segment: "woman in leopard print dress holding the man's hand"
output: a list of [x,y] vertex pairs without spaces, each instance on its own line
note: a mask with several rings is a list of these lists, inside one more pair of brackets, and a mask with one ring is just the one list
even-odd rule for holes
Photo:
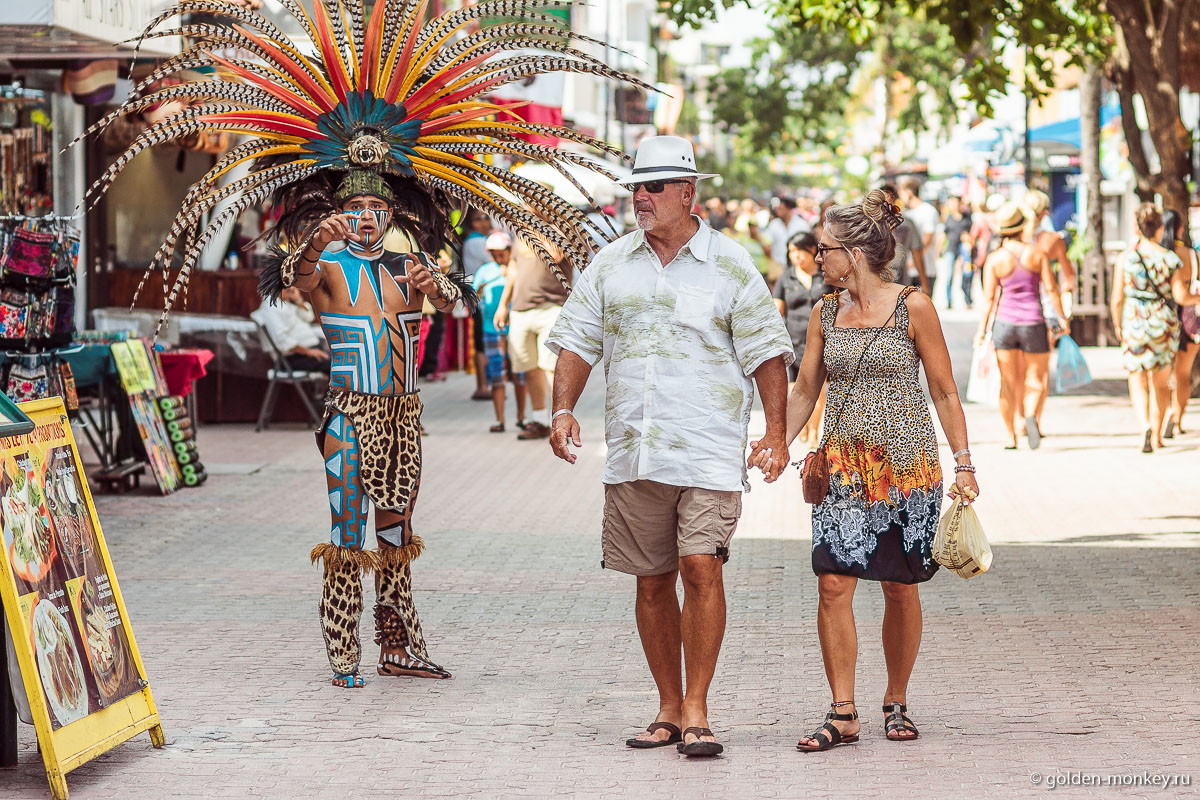
[[829,459],[829,493],[812,510],[812,570],[821,603],[817,630],[833,710],[797,745],[828,750],[857,741],[853,595],[859,579],[883,588],[883,693],[886,735],[917,738],[906,716],[908,676],[920,645],[917,587],[937,571],[931,555],[942,501],[937,437],[918,383],[919,366],[954,452],[956,486],[978,494],[967,450],[966,419],[950,373],[941,323],[929,297],[893,283],[892,230],[900,211],[881,191],[860,205],[826,213],[817,261],[826,283],[840,291],[814,308],[808,347],[787,409],[787,441],[809,421],[829,379],[822,443]]

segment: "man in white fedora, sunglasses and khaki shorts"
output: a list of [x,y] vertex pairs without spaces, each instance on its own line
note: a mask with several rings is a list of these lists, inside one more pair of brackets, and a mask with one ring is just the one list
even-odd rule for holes
[[637,630],[659,690],[654,723],[626,745],[686,756],[722,750],[708,687],[725,634],[721,566],[749,488],[754,384],[767,433],[751,457],[769,451],[774,481],[787,465],[793,359],[750,254],[691,213],[704,178],[686,139],[642,142],[625,181],[637,229],[596,253],[547,341],[558,354],[550,444],[568,463],[581,441],[572,409],[601,360],[607,378],[600,564],[637,576]]

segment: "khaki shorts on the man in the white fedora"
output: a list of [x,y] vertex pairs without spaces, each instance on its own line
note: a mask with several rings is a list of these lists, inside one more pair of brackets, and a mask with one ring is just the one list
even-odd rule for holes
[[600,566],[648,576],[679,569],[685,555],[728,561],[740,515],[742,492],[658,481],[606,483]]

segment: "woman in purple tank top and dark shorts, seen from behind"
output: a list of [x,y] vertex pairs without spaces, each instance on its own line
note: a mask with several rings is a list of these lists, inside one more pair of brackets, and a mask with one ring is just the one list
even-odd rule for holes
[[1016,450],[1016,420],[1025,420],[1030,447],[1042,444],[1039,399],[1050,381],[1050,338],[1042,315],[1042,289],[1069,330],[1058,282],[1045,253],[1026,243],[1026,211],[1006,203],[996,211],[1000,246],[984,261],[983,294],[986,309],[977,344],[991,336],[1000,365],[1000,415],[1008,439],[1006,450]]

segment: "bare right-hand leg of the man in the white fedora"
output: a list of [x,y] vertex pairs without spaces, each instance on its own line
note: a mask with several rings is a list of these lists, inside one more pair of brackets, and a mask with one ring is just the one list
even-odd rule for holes
[[[716,672],[716,658],[725,638],[725,583],[721,559],[686,555],[679,559],[683,577],[682,638],[688,670],[688,693],[683,700],[683,729],[708,728],[708,686]],[[716,736],[701,736],[716,741]],[[695,739],[692,739],[695,741]],[[686,736],[684,744],[688,744]]]

